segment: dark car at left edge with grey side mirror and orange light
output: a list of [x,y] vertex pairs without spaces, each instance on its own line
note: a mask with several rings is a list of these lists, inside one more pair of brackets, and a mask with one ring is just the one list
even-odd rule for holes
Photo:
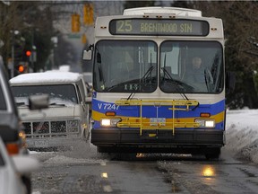
[[[46,97],[44,98],[46,99]],[[47,107],[47,102],[42,101],[43,99],[41,99],[41,97],[40,99],[36,100],[36,103],[34,103],[34,99],[30,101],[30,107],[33,107],[34,110]],[[0,57],[0,137],[2,137],[4,141],[8,154],[28,154],[22,120],[20,119],[15,101],[13,99],[13,94],[8,82],[2,57]],[[22,174],[22,181],[26,185],[28,193],[30,193],[30,173]]]

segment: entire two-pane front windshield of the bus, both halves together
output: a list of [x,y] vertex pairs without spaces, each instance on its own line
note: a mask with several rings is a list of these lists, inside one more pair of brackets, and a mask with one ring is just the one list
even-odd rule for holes
[[223,91],[223,52],[217,41],[166,40],[158,49],[151,40],[100,40],[95,48],[97,92],[153,93],[158,83],[163,93]]

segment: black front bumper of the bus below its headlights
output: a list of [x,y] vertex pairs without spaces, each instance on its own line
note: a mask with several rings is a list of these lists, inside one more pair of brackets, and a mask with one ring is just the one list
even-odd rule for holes
[[139,128],[94,128],[91,143],[107,152],[180,153],[194,154],[217,149],[224,145],[224,130],[175,129],[142,130]]

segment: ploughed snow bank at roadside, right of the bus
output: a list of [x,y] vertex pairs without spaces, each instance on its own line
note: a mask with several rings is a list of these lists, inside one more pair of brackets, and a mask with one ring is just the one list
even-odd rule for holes
[[226,146],[236,157],[258,163],[258,110],[228,110]]

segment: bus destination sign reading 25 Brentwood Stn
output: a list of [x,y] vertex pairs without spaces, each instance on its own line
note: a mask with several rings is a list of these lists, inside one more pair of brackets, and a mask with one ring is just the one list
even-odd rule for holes
[[194,20],[117,19],[109,23],[113,35],[207,36],[209,23]]

